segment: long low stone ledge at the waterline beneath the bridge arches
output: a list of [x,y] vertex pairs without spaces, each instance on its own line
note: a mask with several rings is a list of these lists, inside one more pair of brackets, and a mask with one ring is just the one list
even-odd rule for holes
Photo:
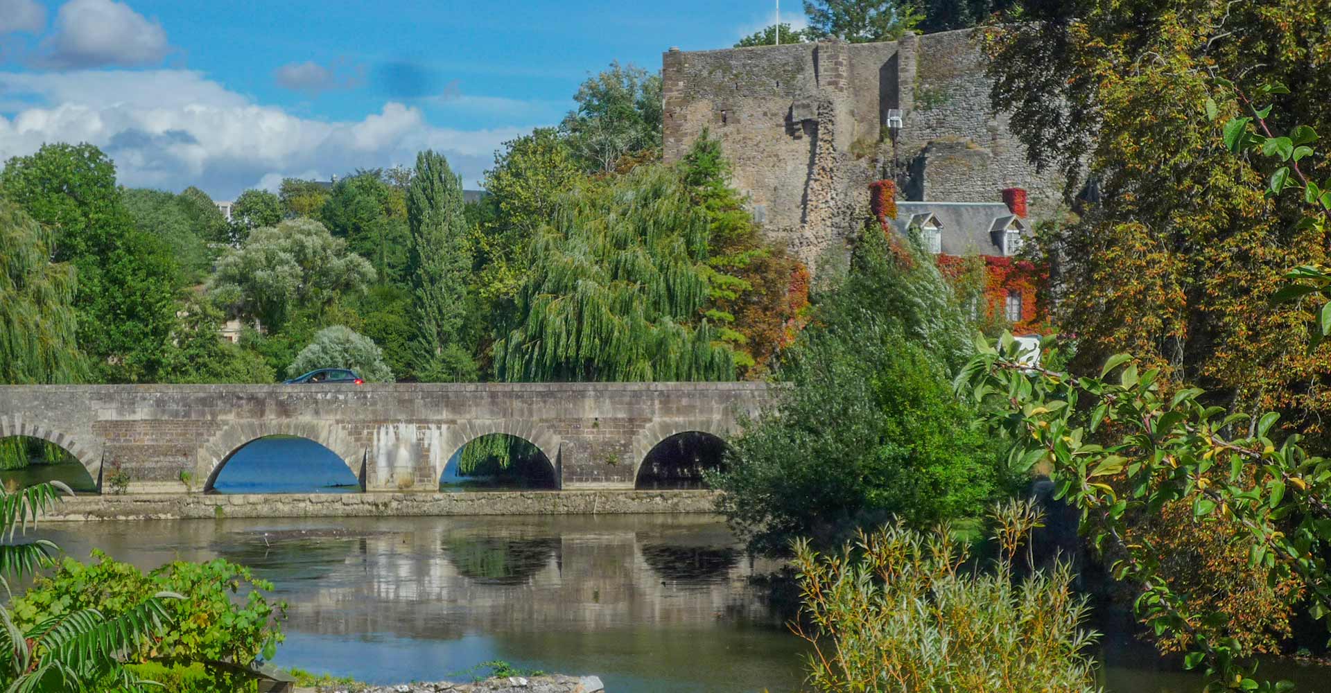
[[709,513],[715,499],[712,491],[634,489],[85,495],[65,499],[43,521]]

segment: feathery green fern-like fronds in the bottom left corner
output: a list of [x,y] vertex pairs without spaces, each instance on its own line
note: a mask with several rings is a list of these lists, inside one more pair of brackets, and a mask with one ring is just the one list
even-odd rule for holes
[[[60,551],[53,543],[15,537],[20,528],[27,531],[29,520],[36,523],[51,511],[61,493],[73,495],[61,483],[36,484],[13,493],[0,488],[0,587],[5,592],[11,579],[52,565]],[[15,600],[11,608],[0,608],[0,686],[11,693],[142,690],[152,682],[124,664],[176,626],[172,607],[181,599],[176,592],[144,589],[114,607],[64,601],[59,612],[27,616]]]

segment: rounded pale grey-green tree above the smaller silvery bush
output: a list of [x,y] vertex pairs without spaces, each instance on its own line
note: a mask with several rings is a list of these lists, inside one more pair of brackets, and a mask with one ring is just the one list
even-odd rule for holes
[[370,263],[346,251],[313,219],[287,219],[254,229],[241,247],[217,261],[208,293],[229,315],[257,318],[269,331],[281,330],[302,309],[323,310],[343,291],[374,282]]

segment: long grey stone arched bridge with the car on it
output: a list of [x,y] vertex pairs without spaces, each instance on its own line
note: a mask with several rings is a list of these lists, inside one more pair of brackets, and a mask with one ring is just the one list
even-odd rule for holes
[[546,454],[560,488],[632,488],[662,440],[724,436],[768,399],[763,383],[3,386],[0,438],[56,443],[98,488],[118,466],[130,492],[178,492],[181,472],[208,489],[237,450],[294,435],[366,491],[433,492],[462,446],[510,434]]

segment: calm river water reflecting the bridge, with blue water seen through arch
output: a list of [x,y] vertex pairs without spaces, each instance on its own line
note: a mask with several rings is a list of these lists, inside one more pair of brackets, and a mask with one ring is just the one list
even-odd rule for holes
[[[262,484],[262,476],[277,476],[274,459],[281,459],[284,491],[345,480],[335,458],[321,463],[290,446],[246,448],[224,470],[218,488],[276,491]],[[49,468],[0,474],[0,480],[8,476],[69,479]],[[751,561],[712,516],[226,519],[40,528],[40,536],[80,559],[100,548],[145,569],[213,557],[252,567],[290,607],[287,638],[276,657],[281,666],[393,684],[467,680],[461,672],[498,658],[527,669],[595,673],[612,693],[800,689],[803,644],[749,584],[776,565]],[[1195,674],[1155,657],[1131,634],[1106,634],[1101,656],[1102,682],[1111,693],[1201,690]],[[1331,693],[1331,669],[1280,661],[1263,670],[1295,680],[1299,690]]]

